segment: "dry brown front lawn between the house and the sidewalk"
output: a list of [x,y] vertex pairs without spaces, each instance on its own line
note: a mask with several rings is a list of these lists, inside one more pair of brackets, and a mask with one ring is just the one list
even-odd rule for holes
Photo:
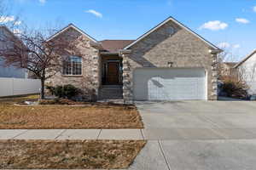
[[143,128],[141,116],[133,105],[13,105],[22,100],[0,99],[0,129]]

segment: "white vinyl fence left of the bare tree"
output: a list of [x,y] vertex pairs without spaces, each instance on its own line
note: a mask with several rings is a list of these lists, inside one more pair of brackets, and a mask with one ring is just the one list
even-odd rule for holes
[[38,94],[41,82],[38,79],[0,78],[0,97]]

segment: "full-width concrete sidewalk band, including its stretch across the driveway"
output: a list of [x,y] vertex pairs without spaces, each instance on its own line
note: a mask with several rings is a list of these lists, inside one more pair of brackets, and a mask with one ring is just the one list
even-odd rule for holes
[[0,130],[0,139],[222,140],[256,139],[256,128]]

